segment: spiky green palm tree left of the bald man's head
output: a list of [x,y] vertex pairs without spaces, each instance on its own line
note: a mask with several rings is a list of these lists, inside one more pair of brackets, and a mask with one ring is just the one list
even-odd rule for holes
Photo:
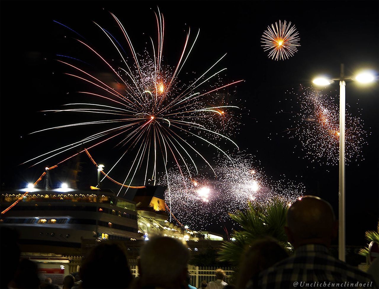
[[232,233],[233,241],[222,243],[218,252],[218,261],[229,261],[237,266],[245,247],[254,240],[266,236],[275,238],[283,247],[291,250],[292,247],[287,242],[284,231],[287,210],[287,202],[275,198],[263,206],[249,202],[247,209],[229,213],[230,218],[240,225],[242,230]]

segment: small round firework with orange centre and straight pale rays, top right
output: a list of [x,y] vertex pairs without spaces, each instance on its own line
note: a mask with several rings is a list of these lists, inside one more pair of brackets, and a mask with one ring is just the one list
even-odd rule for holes
[[288,23],[284,21],[282,23],[279,20],[278,23],[275,22],[267,27],[267,30],[263,32],[262,35],[262,46],[264,51],[269,51],[268,57],[275,60],[284,60],[288,59],[290,56],[293,56],[294,53],[298,52],[296,47],[300,46],[298,43],[300,37],[299,33],[296,31],[295,25],[291,27],[291,22]]

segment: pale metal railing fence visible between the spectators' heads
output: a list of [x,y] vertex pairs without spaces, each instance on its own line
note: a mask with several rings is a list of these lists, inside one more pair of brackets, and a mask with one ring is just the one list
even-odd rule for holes
[[[191,274],[191,281],[189,284],[199,288],[202,281],[210,282],[215,281],[215,270],[216,269],[224,270],[226,274],[225,282],[229,283],[230,275],[234,273],[233,267],[215,267],[215,266],[188,266],[188,272]],[[136,264],[130,265],[130,270],[132,271],[133,276],[138,277],[138,266]]]

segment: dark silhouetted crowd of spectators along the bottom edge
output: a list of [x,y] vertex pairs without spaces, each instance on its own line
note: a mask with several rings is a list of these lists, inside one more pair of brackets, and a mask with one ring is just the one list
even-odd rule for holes
[[[293,254],[288,255],[272,238],[257,240],[242,254],[235,284],[226,283],[224,271],[217,269],[215,279],[202,281],[200,288],[377,288],[377,270],[370,268],[370,275],[330,255],[338,223],[328,202],[315,196],[294,202],[285,231]],[[125,247],[100,242],[83,259],[79,273],[67,275],[58,286],[50,278],[39,280],[37,264],[20,259],[14,230],[3,227],[1,235],[1,288],[196,288],[190,284],[187,269],[189,250],[174,238],[151,238],[141,247],[137,278],[131,273]]]

